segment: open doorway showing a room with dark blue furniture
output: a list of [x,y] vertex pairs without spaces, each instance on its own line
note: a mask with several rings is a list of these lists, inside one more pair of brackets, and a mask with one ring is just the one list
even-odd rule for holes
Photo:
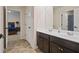
[[10,42],[20,39],[20,11],[15,10],[13,7],[6,7],[6,48],[11,47]]

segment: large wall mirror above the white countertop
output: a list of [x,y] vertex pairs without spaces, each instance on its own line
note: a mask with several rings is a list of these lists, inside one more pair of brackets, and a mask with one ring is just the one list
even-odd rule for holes
[[54,6],[53,28],[67,31],[79,31],[79,7]]

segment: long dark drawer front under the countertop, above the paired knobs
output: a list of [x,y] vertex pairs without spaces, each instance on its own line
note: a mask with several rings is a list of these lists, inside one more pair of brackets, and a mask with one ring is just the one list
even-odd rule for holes
[[62,47],[68,48],[74,52],[79,52],[79,43],[69,41],[63,38],[54,37],[54,36],[50,37],[50,41],[53,41],[54,43]]

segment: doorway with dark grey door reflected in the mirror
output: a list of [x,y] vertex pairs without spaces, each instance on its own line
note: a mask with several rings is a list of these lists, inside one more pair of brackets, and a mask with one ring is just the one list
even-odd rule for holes
[[74,31],[74,11],[65,11],[61,14],[61,29]]

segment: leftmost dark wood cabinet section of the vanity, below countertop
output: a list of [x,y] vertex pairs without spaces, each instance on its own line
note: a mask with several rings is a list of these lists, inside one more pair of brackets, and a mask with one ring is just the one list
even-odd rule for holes
[[38,32],[37,45],[41,51],[48,53],[49,52],[49,35]]

